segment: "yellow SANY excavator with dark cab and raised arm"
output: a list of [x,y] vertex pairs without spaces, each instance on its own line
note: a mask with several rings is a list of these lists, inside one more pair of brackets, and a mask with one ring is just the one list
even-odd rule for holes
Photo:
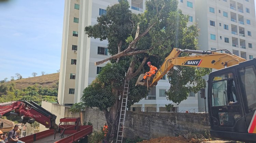
[[[182,52],[195,55],[179,57]],[[246,61],[226,49],[198,51],[173,48],[155,76],[139,82],[144,76],[141,74],[136,85],[153,87],[177,65],[217,69],[209,74],[207,91],[212,137],[256,142],[256,58]],[[204,88],[200,94],[206,99]]]

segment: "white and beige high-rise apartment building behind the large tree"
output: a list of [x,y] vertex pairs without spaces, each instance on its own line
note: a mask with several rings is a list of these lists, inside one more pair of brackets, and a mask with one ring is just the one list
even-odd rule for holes
[[[68,106],[80,102],[84,88],[106,64],[95,66],[94,62],[109,57],[108,42],[88,38],[84,34],[84,27],[96,24],[97,17],[106,13],[106,7],[117,2],[118,0],[65,0],[59,104]],[[128,2],[133,13],[145,10],[145,0]],[[178,6],[184,14],[189,15],[188,25],[198,23],[200,50],[225,48],[246,59],[256,57],[253,0],[179,0]],[[137,109],[140,110],[154,107],[153,110],[161,111],[165,104],[172,103],[164,94],[169,86],[168,79],[164,76],[146,99],[132,107],[139,107]],[[174,104],[176,111],[202,107],[204,101],[198,93],[190,93],[187,100],[179,105]]]

